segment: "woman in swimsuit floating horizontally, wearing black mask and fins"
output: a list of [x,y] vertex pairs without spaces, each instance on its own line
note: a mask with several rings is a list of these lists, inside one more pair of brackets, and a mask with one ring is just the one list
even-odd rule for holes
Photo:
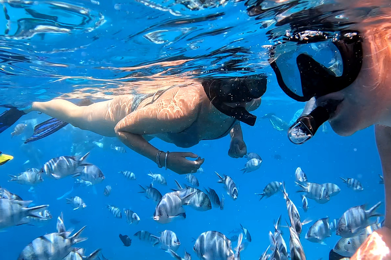
[[[247,153],[239,121],[254,125],[257,109],[266,89],[266,77],[207,79],[171,86],[150,95],[120,95],[88,106],[76,106],[61,99],[33,102],[30,109],[11,108],[0,116],[1,132],[31,111],[39,111],[106,137],[118,137],[135,152],[178,174],[196,172],[204,159],[191,152],[163,152],[149,143],[153,138],[188,148],[201,140],[214,140],[230,134],[228,154]],[[56,119],[54,119],[55,121]],[[49,120],[50,121],[50,120]],[[2,125],[3,124],[3,125]],[[51,133],[60,126],[41,131]],[[37,128],[37,127],[36,127]],[[39,131],[36,129],[36,131]],[[38,136],[39,134],[38,133]],[[186,157],[197,158],[188,160]]]

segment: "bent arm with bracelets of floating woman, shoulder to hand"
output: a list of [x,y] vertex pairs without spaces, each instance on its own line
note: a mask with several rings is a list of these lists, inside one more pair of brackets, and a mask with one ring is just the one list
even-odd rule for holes
[[[115,127],[118,138],[126,146],[154,162],[159,149],[148,143],[143,135],[179,133],[198,117],[198,99],[189,100],[184,96],[176,95],[176,92],[165,94],[165,98],[161,97],[155,103],[130,113]],[[197,171],[204,161],[201,158],[191,161],[185,157],[197,158],[198,155],[171,152],[167,156],[167,167],[176,173],[186,174]],[[165,153],[162,152],[160,154],[162,166],[164,166],[164,158]]]

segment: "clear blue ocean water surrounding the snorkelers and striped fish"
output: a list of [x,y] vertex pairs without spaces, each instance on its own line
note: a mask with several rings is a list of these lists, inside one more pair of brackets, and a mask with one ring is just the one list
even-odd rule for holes
[[[139,80],[152,81],[189,73],[197,77],[266,73],[269,76],[268,91],[261,107],[254,112],[258,118],[266,113],[275,113],[289,122],[294,113],[303,107],[302,103],[294,102],[283,94],[271,69],[266,66],[267,46],[274,43],[267,36],[267,32],[274,28],[267,23],[272,17],[249,16],[247,9],[252,3],[227,2],[222,5],[216,2],[193,10],[173,1],[62,3],[67,7],[60,2],[49,1],[2,3],[10,18],[0,17],[0,24],[5,30],[0,37],[1,105],[24,107],[32,101],[47,101],[61,95],[100,100],[118,93],[137,91],[126,85],[129,82],[136,84]],[[311,3],[303,1],[295,6],[295,11],[308,5]],[[180,60],[183,61],[174,62]],[[132,67],[136,68],[132,70]],[[191,151],[204,157],[204,173],[196,174],[200,187],[211,187],[220,197],[224,193],[226,198],[222,211],[213,208],[198,212],[187,208],[185,220],[163,225],[152,219],[155,204],[138,193],[138,184],[148,185],[151,182],[147,176],[149,171],[161,173],[168,185],[156,184],[155,187],[165,193],[175,188],[174,180],[186,183],[185,176],[158,169],[155,163],[128,148],[127,153],[100,149],[91,145],[91,140],[98,141],[99,136],[72,126],[23,145],[25,137],[31,135],[34,123],[48,118],[31,113],[17,122],[29,124],[23,135],[11,138],[11,127],[0,136],[0,150],[14,156],[13,160],[0,167],[0,185],[24,200],[33,200],[36,205],[49,204],[53,216],[44,226],[14,226],[0,233],[3,241],[0,243],[0,259],[16,259],[32,240],[55,232],[55,219],[61,212],[68,229],[76,231],[87,225],[83,236],[89,239],[77,246],[85,248],[88,253],[102,248],[104,256],[110,260],[171,259],[158,247],[133,238],[133,234],[140,230],[155,235],[163,230],[174,231],[181,241],[178,253],[183,255],[186,249],[193,259],[197,259],[192,251],[193,238],[209,230],[230,236],[229,232],[239,228],[240,224],[249,230],[253,238],[241,253],[242,259],[258,259],[269,245],[268,232],[273,231],[273,220],[282,215],[285,222],[288,215],[281,193],[261,201],[254,193],[262,192],[271,181],[285,181],[291,199],[299,207],[301,198],[295,192],[297,187],[294,184],[297,167],[303,169],[311,182],[333,182],[341,187],[341,192],[326,204],[309,200],[307,213],[299,209],[302,220],[315,221],[326,216],[339,218],[350,207],[372,206],[384,200],[383,186],[378,183],[381,167],[373,127],[351,137],[339,137],[326,124],[325,133],[319,130],[313,140],[297,146],[290,143],[285,132],[276,131],[267,119],[259,119],[254,127],[242,125],[247,150],[258,153],[263,159],[261,168],[251,173],[242,174],[240,171],[246,159],[228,156],[229,137],[202,141],[188,149],[160,140],[151,141],[164,151]],[[110,142],[118,144],[115,139]],[[28,186],[8,182],[8,174],[16,175],[28,167],[41,168],[53,157],[72,155],[74,143],[85,146],[83,151],[91,151],[88,162],[97,165],[105,175],[101,184],[74,187],[68,196],[83,198],[87,208],[74,211],[65,199],[57,200],[74,186],[74,179],[70,177],[45,179],[34,192],[29,191]],[[25,164],[27,160],[30,162]],[[127,180],[119,171],[132,171],[137,180]],[[236,201],[229,198],[222,185],[217,183],[214,171],[234,179],[239,188]],[[342,183],[340,177],[360,180],[364,191],[354,192]],[[113,187],[109,197],[103,196],[106,185]],[[124,218],[116,219],[106,209],[107,204],[120,209],[131,208],[141,221],[138,225],[129,225]],[[384,212],[383,206],[379,212]],[[71,219],[79,223],[71,223]],[[310,225],[304,226],[301,239],[307,259],[327,259],[339,237],[333,235],[327,238],[327,245],[306,241],[303,236]],[[120,233],[133,239],[130,247],[123,246],[118,238]],[[288,230],[285,229],[284,233],[288,242]]]

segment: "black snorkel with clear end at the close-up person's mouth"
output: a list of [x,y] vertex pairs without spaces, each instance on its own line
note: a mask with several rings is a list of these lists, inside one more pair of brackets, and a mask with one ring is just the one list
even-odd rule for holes
[[310,140],[318,128],[330,118],[325,107],[317,107],[309,115],[300,116],[288,129],[288,138],[294,144],[303,144]]

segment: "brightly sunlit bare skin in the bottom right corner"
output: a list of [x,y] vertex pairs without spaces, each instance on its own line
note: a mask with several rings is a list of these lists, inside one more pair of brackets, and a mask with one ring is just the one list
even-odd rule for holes
[[350,260],[391,260],[391,229],[383,227],[357,249]]

